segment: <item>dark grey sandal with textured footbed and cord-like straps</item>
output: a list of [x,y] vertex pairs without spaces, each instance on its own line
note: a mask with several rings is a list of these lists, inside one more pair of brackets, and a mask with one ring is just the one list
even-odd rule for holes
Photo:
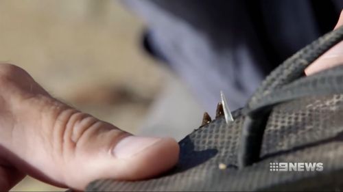
[[87,191],[342,190],[343,66],[303,72],[341,40],[343,27],[309,44],[263,81],[233,122],[218,113],[182,139],[178,164],[167,174],[97,180]]

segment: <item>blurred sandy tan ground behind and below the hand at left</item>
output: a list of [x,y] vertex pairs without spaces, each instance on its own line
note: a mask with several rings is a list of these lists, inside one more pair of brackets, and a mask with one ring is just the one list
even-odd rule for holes
[[[131,133],[167,73],[141,50],[143,23],[119,1],[0,1],[0,61],[56,98]],[[26,178],[12,191],[63,190]]]

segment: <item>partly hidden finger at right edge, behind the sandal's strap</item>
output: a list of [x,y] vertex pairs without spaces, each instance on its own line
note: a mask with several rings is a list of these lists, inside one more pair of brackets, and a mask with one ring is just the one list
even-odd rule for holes
[[[340,14],[335,29],[343,25],[343,12]],[[324,53],[316,61],[305,69],[305,74],[310,75],[333,66],[343,64],[343,42],[333,46],[327,53]]]

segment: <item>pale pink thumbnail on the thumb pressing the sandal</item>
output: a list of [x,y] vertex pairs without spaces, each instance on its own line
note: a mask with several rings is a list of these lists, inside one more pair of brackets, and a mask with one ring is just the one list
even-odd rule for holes
[[128,159],[139,152],[147,150],[147,148],[161,141],[161,139],[157,137],[128,136],[121,139],[115,148],[113,148],[112,152],[118,159]]

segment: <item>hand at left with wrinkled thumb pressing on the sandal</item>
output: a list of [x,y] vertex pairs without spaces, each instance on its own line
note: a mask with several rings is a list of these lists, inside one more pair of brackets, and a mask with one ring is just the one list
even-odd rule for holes
[[25,70],[0,64],[0,191],[26,174],[83,190],[99,178],[137,180],[171,168],[178,143],[135,137],[50,96]]

